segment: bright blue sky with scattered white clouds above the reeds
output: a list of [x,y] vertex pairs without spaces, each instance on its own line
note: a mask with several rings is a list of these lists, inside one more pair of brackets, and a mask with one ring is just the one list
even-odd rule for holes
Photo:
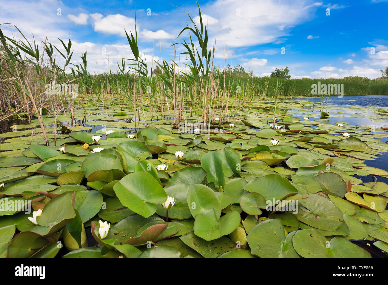
[[[132,54],[124,29],[134,31],[135,9],[140,49],[147,62],[171,59],[171,44],[189,17],[169,3],[196,20],[196,3],[187,0],[0,0],[0,23],[16,25],[28,38],[31,33],[38,40],[47,36],[58,47],[57,38],[69,37],[74,48],[72,63],[78,63],[78,55],[87,51],[90,72],[115,71],[117,59]],[[217,37],[215,66],[223,66],[225,51],[226,64],[251,68],[258,76],[288,66],[295,78],[376,78],[388,66],[388,1],[217,0],[199,4],[210,39]],[[2,25],[11,35],[6,27]],[[184,61],[181,56],[182,68]]]

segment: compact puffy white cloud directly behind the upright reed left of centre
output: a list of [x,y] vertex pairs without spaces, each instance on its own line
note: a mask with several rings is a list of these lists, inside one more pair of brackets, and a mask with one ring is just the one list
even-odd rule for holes
[[[121,14],[107,15],[103,17],[100,13],[90,14],[94,19],[94,31],[112,35],[120,35],[125,37],[125,30],[130,34],[130,31],[135,31],[135,19],[126,17]],[[124,30],[125,29],[125,30]],[[137,24],[139,31],[139,25]]]

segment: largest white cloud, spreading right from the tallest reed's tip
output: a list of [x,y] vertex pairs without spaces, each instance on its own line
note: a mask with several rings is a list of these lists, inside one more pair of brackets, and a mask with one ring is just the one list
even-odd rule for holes
[[201,10],[218,19],[209,26],[211,37],[217,37],[217,45],[246,47],[286,40],[288,30],[312,19],[321,5],[310,5],[306,0],[241,0],[237,4],[235,0],[216,0]]

